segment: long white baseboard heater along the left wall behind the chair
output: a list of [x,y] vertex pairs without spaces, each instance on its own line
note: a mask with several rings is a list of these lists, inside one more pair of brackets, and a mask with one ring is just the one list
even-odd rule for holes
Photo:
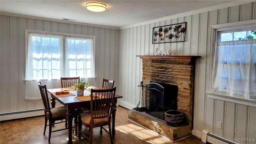
[[29,118],[34,116],[43,116],[44,108],[34,109],[34,110],[24,110],[18,112],[6,112],[0,114],[0,122],[8,120],[17,120],[21,118]]

